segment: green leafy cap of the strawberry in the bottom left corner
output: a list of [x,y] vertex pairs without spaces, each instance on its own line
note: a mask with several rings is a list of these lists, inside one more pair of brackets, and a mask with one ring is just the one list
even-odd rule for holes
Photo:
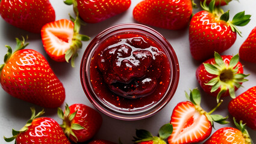
[[28,130],[28,127],[30,127],[34,119],[39,118],[45,113],[43,109],[41,112],[37,113],[36,115],[36,110],[34,109],[34,107],[31,107],[30,109],[31,109],[32,115],[31,115],[31,118],[27,121],[27,124],[25,124],[25,126],[21,128],[19,131],[13,129],[12,130],[13,136],[8,138],[4,137],[5,142],[12,142],[14,139],[16,139],[17,136],[19,136],[20,133],[23,133]]

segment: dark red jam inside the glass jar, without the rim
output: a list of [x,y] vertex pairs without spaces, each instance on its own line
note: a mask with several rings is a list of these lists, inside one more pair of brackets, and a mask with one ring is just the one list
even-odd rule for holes
[[94,52],[90,82],[96,95],[114,109],[146,109],[166,92],[170,63],[147,35],[120,33],[107,38]]

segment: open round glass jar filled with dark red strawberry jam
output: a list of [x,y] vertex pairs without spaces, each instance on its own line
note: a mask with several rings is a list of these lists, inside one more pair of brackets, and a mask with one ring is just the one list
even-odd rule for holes
[[172,98],[180,77],[170,43],[148,26],[125,23],[98,34],[81,61],[90,102],[116,119],[143,119]]

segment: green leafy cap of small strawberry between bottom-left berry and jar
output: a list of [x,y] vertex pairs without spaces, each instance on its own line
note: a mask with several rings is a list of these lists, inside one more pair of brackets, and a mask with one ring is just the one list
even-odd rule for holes
[[69,106],[66,104],[65,113],[63,112],[63,110],[60,109],[60,107],[58,108],[57,113],[58,113],[58,117],[63,119],[63,124],[61,124],[60,127],[63,129],[64,133],[67,135],[67,137],[70,137],[70,135],[72,135],[73,137],[75,137],[77,141],[78,138],[75,136],[75,133],[73,132],[73,130],[86,129],[82,127],[80,124],[76,124],[72,122],[76,116],[77,110],[73,113],[70,113]]

